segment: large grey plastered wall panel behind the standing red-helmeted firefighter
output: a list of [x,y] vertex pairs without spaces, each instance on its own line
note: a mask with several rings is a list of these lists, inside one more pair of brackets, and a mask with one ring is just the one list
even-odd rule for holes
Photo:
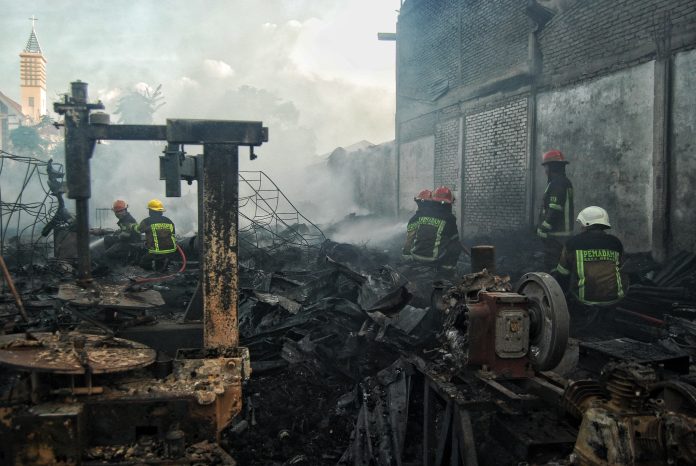
[[[647,251],[652,239],[652,62],[586,81],[537,99],[537,157],[560,149],[575,211],[599,205],[629,251]],[[535,211],[546,184],[536,169]]]

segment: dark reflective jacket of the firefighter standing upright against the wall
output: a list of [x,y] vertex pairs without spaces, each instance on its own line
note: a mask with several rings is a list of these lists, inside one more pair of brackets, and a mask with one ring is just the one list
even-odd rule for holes
[[573,234],[574,217],[573,185],[564,174],[551,174],[544,191],[537,235],[565,239]]

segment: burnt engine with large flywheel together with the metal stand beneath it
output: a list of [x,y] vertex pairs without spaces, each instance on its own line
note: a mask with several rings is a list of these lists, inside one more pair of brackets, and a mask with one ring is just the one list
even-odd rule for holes
[[478,465],[487,436],[505,439],[517,458],[530,461],[535,452],[569,451],[575,442],[575,429],[548,410],[563,394],[563,381],[547,372],[559,364],[568,342],[560,286],[546,273],[529,273],[513,291],[507,277],[483,268],[444,296],[433,296],[443,319],[439,338],[446,364],[410,359],[424,381],[427,466]]

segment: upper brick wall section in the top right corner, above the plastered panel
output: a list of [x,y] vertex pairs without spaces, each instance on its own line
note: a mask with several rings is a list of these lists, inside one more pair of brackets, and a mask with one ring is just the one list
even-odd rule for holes
[[[650,56],[655,31],[669,12],[675,29],[696,21],[694,0],[585,0],[554,17],[539,34],[544,74],[582,72],[606,62],[625,67],[622,55]],[[638,57],[635,57],[638,58]]]

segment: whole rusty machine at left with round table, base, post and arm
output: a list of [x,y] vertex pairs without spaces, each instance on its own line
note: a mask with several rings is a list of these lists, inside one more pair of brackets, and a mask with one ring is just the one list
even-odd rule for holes
[[[54,108],[65,116],[66,186],[76,206],[81,286],[92,281],[88,203],[98,140],[166,141],[161,171],[169,197],[181,195],[182,179],[197,180],[203,347],[180,349],[171,374],[157,378],[143,369],[155,361],[152,349],[113,335],[3,337],[0,364],[19,372],[12,378],[16,386],[0,400],[0,463],[87,464],[83,454],[89,447],[145,437],[169,445],[159,452],[169,457],[167,464],[189,464],[182,439],[219,440],[241,409],[242,380],[250,375],[237,328],[238,151],[248,146],[255,158],[253,148],[268,140],[268,130],[260,122],[214,120],[111,125],[107,114],[92,113],[104,107],[88,102],[87,84],[80,81]],[[203,154],[186,156],[184,144],[202,144]],[[154,451],[148,450],[151,456]],[[123,455],[111,457],[119,464],[142,464],[150,457],[145,458],[129,463]]]

